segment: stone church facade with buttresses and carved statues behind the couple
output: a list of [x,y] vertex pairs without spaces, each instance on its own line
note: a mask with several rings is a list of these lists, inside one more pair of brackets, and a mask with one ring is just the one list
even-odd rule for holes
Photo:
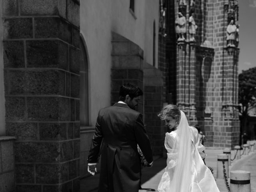
[[201,126],[206,146],[239,143],[236,0],[0,3],[6,191],[78,192],[98,110],[124,82],[144,91],[155,156],[168,131],[156,114],[169,103]]

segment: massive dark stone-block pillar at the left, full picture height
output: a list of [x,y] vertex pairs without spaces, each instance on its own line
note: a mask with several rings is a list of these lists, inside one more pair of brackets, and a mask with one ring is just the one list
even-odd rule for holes
[[79,0],[3,0],[16,191],[80,188]]

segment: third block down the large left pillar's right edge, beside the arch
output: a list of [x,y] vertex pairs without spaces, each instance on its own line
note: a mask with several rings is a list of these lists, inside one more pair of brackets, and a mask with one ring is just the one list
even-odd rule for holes
[[71,72],[79,74],[81,63],[81,51],[77,48],[70,47],[69,52],[69,69]]

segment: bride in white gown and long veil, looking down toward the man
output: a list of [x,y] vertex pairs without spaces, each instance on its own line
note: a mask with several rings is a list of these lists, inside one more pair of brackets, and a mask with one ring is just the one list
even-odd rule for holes
[[167,166],[158,185],[159,192],[220,192],[208,167],[204,165],[198,131],[188,125],[184,112],[167,105],[158,116],[174,129],[166,133]]

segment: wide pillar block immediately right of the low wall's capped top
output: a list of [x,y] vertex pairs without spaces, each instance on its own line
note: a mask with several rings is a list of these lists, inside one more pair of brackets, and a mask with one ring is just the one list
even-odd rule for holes
[[58,142],[16,142],[16,162],[56,162],[60,160]]

